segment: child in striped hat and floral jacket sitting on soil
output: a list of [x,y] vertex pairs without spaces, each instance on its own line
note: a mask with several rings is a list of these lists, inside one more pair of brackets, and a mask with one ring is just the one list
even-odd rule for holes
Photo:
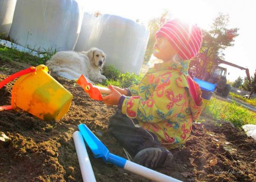
[[168,21],[155,34],[154,64],[137,86],[121,89],[109,85],[112,93],[103,97],[107,105],[118,105],[109,120],[109,130],[134,157],[149,168],[172,164],[166,148],[178,148],[188,139],[192,121],[202,110],[200,88],[188,76],[189,59],[202,43],[196,25]]

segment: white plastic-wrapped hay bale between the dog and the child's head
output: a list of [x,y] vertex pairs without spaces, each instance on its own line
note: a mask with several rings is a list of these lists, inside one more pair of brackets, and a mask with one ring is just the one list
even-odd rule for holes
[[113,65],[122,73],[139,74],[148,45],[148,29],[130,19],[100,15],[88,41],[107,55],[105,65]]

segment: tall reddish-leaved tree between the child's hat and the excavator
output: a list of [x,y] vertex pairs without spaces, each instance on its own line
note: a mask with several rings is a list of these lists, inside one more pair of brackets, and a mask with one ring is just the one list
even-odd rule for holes
[[196,77],[202,79],[205,72],[211,71],[211,68],[218,63],[216,58],[223,58],[228,46],[233,46],[235,37],[239,34],[238,28],[228,29],[229,16],[219,13],[214,19],[209,31],[202,30],[203,42],[196,57],[191,59],[190,68],[196,69]]

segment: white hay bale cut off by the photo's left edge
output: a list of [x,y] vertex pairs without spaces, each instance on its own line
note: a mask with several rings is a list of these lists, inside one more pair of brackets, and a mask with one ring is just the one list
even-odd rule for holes
[[9,35],[16,0],[0,0],[0,34]]

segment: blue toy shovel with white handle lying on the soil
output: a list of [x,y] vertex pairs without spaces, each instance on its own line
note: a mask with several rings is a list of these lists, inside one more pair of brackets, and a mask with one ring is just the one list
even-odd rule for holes
[[78,128],[95,158],[100,157],[104,162],[117,165],[127,171],[131,171],[140,176],[144,176],[155,182],[181,182],[175,178],[166,176],[162,173],[109,153],[108,148],[90,131],[90,129],[85,124],[78,125]]

